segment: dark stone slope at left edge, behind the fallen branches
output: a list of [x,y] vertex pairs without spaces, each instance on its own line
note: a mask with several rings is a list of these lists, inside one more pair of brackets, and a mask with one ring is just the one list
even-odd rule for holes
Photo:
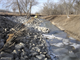
[[0,16],[0,49],[3,47],[6,39],[8,38],[7,34],[10,33],[10,29],[13,28],[15,24],[15,22]]

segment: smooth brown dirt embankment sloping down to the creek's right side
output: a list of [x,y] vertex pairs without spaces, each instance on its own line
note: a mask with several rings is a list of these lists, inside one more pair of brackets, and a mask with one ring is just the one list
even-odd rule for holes
[[51,21],[61,30],[67,32],[71,37],[80,41],[80,16],[70,16],[67,18],[66,15],[59,16],[47,16],[43,19]]

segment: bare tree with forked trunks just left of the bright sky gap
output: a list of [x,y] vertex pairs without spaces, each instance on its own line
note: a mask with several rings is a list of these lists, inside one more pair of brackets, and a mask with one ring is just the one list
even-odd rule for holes
[[34,5],[36,5],[38,2],[36,0],[20,0],[20,9],[21,12],[26,13],[27,18],[31,15],[31,9]]

